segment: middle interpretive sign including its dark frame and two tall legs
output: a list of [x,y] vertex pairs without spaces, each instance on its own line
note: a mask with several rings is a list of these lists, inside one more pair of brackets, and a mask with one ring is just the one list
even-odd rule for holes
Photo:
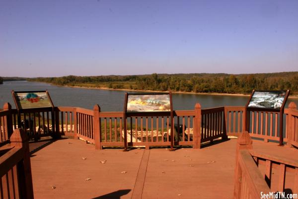
[[[174,123],[174,113],[173,113],[173,104],[172,104],[172,93],[126,93],[124,108],[123,108],[123,118],[124,118],[124,151],[127,150],[127,136],[128,136],[128,118],[130,118],[130,146],[133,146],[136,143],[132,142],[133,135],[133,117],[135,118],[136,129],[138,126],[138,118],[141,118],[141,128],[142,125],[146,125],[148,128],[148,117],[151,117],[151,129],[153,129],[153,124],[157,126],[156,131],[156,142],[153,142],[153,130],[151,131],[151,141],[144,142],[146,147],[154,146],[157,143],[158,138],[158,117],[167,117],[168,125],[170,126],[170,135],[173,135],[173,123]],[[143,122],[144,117],[144,122]],[[139,120],[140,121],[140,120]],[[164,120],[162,120],[163,122]],[[156,123],[155,123],[156,122]],[[164,125],[163,123],[161,125]],[[138,130],[136,130],[138,132]],[[136,139],[138,137],[138,133],[135,134]],[[148,138],[147,138],[148,139]],[[155,139],[155,138],[154,138]],[[174,139],[170,139],[168,142],[164,142],[165,144],[169,144],[171,149],[173,150]]]

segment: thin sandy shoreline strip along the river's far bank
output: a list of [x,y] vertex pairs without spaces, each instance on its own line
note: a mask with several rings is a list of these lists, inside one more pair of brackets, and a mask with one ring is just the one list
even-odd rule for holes
[[[52,84],[55,85],[55,84]],[[55,85],[59,86],[59,85]],[[109,91],[133,91],[133,92],[152,92],[152,93],[164,93],[167,91],[151,91],[151,90],[133,90],[133,89],[110,89],[107,87],[80,87],[80,86],[68,86],[64,85],[62,87],[69,88],[80,88],[80,89],[95,89],[95,90],[109,90]],[[172,91],[173,94],[191,94],[191,95],[210,95],[210,96],[241,96],[241,97],[249,97],[250,94],[224,94],[224,93],[194,93],[194,92],[182,92],[182,91]],[[298,99],[298,95],[289,96],[291,99]]]

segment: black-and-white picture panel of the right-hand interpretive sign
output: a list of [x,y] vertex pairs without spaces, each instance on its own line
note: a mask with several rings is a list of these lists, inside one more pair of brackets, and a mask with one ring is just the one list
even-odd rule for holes
[[281,109],[286,91],[255,91],[247,107]]

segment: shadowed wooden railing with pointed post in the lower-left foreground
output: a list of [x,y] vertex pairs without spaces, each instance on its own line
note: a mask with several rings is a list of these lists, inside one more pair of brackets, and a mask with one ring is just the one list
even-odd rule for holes
[[28,137],[16,129],[10,142],[0,147],[1,199],[33,199]]

